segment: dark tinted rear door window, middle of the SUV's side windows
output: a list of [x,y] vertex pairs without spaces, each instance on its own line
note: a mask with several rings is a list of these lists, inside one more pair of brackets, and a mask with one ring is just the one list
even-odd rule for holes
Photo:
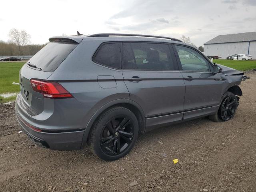
[[166,44],[123,43],[123,69],[174,70],[173,59]]

